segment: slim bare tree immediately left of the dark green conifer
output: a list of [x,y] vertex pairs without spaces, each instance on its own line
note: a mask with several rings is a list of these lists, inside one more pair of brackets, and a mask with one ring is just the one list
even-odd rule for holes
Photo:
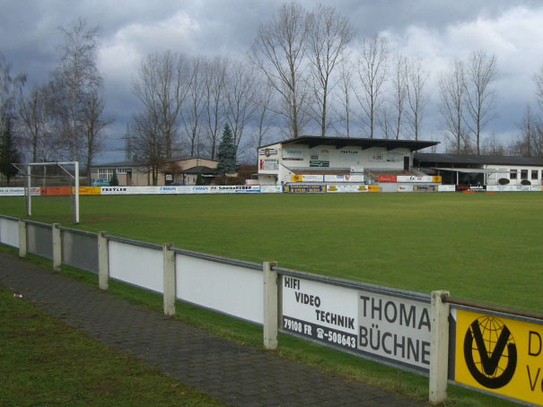
[[216,56],[208,62],[204,70],[205,110],[207,120],[207,141],[209,143],[209,155],[215,160],[215,150],[220,142],[221,129],[224,120],[224,86],[226,72],[230,61],[222,56]]

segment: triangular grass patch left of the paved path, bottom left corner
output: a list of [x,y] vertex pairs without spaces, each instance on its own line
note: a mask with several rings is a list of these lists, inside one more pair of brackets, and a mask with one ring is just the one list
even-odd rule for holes
[[0,287],[0,405],[225,405],[92,341]]

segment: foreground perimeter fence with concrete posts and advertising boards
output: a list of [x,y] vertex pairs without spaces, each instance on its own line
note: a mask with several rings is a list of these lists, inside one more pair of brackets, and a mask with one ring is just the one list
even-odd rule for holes
[[448,383],[543,405],[543,317],[302,273],[0,215],[0,243],[263,326],[277,333],[429,377],[430,402]]

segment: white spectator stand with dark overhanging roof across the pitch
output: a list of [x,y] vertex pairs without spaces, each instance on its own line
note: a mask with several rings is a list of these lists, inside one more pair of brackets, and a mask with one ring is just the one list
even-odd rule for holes
[[258,147],[260,185],[361,183],[413,172],[413,152],[437,142],[302,136]]

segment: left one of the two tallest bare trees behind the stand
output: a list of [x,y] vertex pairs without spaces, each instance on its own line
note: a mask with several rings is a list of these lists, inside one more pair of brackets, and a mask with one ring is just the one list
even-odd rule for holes
[[281,97],[277,113],[285,117],[293,137],[302,133],[303,106],[307,101],[302,79],[306,37],[305,13],[300,4],[292,1],[260,25],[250,48],[250,60]]

